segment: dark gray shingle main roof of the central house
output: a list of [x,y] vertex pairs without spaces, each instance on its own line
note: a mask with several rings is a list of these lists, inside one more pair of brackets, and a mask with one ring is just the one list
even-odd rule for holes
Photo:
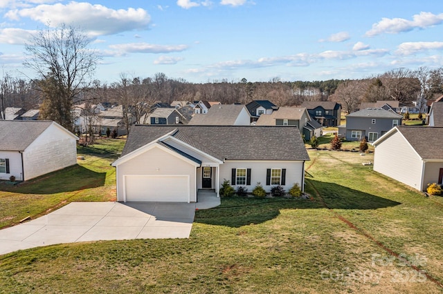
[[288,126],[134,125],[122,156],[170,132],[221,160],[309,160],[300,131]]

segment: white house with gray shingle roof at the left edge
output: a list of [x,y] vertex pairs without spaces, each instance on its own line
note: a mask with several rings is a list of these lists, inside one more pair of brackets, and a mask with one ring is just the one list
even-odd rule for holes
[[54,121],[0,120],[0,179],[33,179],[77,164],[75,137]]

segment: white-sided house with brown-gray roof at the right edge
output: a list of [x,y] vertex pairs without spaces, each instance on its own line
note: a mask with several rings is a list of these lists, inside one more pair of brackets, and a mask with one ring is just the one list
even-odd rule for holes
[[396,126],[374,141],[374,170],[426,190],[442,184],[443,127]]

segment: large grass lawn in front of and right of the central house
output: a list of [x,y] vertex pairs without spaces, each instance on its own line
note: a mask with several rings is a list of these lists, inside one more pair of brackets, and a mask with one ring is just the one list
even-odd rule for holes
[[363,166],[371,154],[309,155],[311,199],[222,199],[189,239],[3,255],[0,293],[441,293],[442,198]]

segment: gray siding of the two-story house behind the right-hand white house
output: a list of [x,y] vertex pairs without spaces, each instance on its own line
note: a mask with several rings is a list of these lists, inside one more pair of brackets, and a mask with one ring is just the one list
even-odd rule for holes
[[[375,119],[375,124],[372,124]],[[377,133],[378,138],[388,132],[392,128],[394,119],[377,118],[377,117],[347,117],[346,118],[346,139],[347,141],[357,141],[352,138],[352,130],[361,130],[361,138],[367,137],[369,133]],[[400,119],[397,119],[401,124]]]

